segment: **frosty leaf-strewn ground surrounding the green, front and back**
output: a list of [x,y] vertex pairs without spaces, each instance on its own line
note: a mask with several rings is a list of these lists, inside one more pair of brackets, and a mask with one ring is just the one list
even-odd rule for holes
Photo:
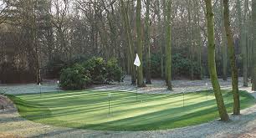
[[[151,85],[138,89],[138,93],[163,94],[182,93],[211,89],[209,79],[203,80],[174,80],[174,92],[167,91],[164,81],[154,79]],[[206,85],[208,84],[208,86]],[[231,88],[231,80],[220,80],[223,89]],[[256,93],[250,88],[242,87],[242,79],[239,79],[241,90],[247,90],[256,98]],[[39,93],[40,88],[34,84],[0,85],[0,89],[7,94]],[[129,78],[122,83],[101,85],[91,89],[95,90],[124,90],[136,92],[136,87],[130,85]],[[186,90],[185,90],[186,89]],[[46,83],[41,87],[42,92],[57,91],[57,84]],[[2,96],[2,99],[3,96]],[[18,110],[8,106],[6,110],[0,110],[0,137],[255,137],[256,136],[256,105],[242,110],[242,115],[231,115],[228,123],[214,120],[202,125],[188,126],[174,130],[149,130],[149,131],[109,131],[109,130],[78,130],[51,125],[34,123],[23,119]]]

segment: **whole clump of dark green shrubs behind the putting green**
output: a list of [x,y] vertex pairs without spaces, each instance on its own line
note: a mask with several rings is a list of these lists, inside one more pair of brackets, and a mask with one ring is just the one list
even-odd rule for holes
[[90,84],[106,84],[122,81],[124,74],[116,59],[106,62],[102,58],[92,58],[83,64],[62,69],[60,87],[63,89],[84,89]]

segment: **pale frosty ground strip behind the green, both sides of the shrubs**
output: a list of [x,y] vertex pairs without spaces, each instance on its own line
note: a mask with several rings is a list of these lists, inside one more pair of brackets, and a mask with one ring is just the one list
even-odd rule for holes
[[[222,89],[231,89],[231,79],[228,81],[219,80]],[[125,77],[124,82],[104,84],[90,88],[91,90],[118,90],[118,91],[130,91],[145,94],[170,94],[170,93],[182,93],[182,92],[195,92],[200,90],[212,89],[210,79],[203,80],[173,80],[173,90],[167,90],[165,81],[161,79],[152,79],[152,84],[147,84],[145,88],[136,88],[136,85],[131,85],[131,78]],[[243,78],[239,79],[239,85],[242,87]],[[28,93],[47,93],[56,92],[59,90],[57,80],[44,82],[41,86],[37,84],[0,84],[1,91],[6,94],[28,94]]]

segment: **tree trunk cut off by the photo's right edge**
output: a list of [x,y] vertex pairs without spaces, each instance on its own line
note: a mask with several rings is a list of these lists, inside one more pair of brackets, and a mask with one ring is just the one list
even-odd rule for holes
[[253,16],[253,91],[256,91],[256,1],[253,0],[252,5]]

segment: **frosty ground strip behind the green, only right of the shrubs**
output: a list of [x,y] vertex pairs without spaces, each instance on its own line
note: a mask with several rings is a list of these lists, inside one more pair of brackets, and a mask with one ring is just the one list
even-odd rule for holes
[[[166,83],[161,79],[152,79],[152,84],[147,84],[144,88],[136,88],[136,85],[131,85],[131,78],[126,77],[124,82],[105,84],[96,86],[94,90],[119,90],[130,91],[144,94],[175,94],[175,93],[189,93],[201,90],[212,89],[210,79],[203,80],[173,80],[173,91],[167,90]],[[232,89],[231,79],[223,81],[219,79],[222,89]],[[243,78],[239,79],[239,86],[243,86]]]

